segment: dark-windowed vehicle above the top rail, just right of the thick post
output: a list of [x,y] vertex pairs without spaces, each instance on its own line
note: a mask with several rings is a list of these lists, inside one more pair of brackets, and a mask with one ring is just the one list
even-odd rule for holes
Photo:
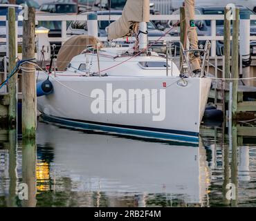
[[57,13],[57,14],[77,14],[76,3],[44,3],[39,8],[39,12]]

